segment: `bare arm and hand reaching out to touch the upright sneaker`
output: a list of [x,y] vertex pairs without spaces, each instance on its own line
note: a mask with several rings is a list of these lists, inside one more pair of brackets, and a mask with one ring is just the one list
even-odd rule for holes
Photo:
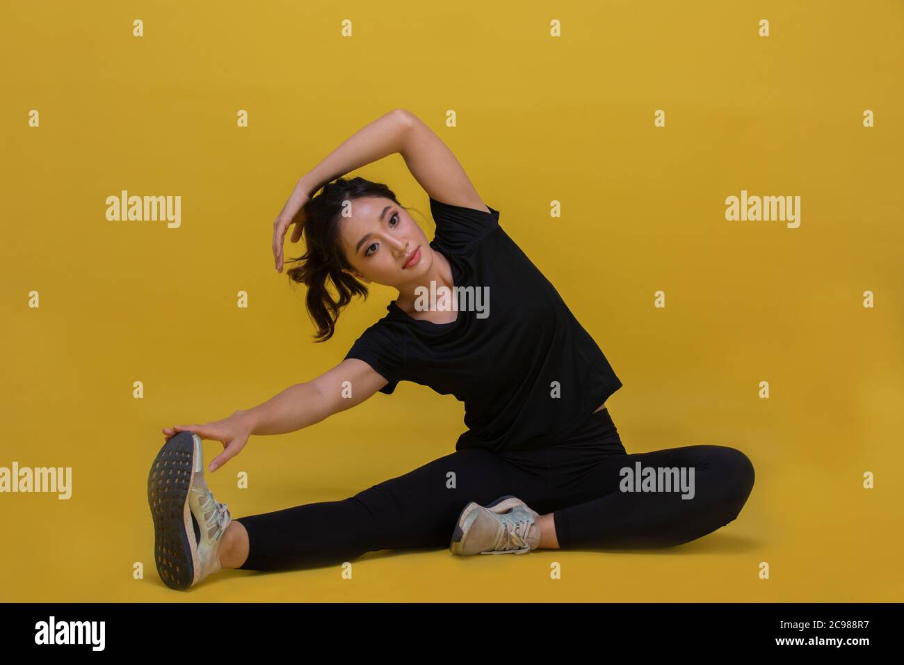
[[238,455],[252,434],[285,434],[301,430],[361,404],[386,383],[386,379],[363,360],[346,358],[324,374],[291,385],[252,409],[237,411],[212,423],[166,427],[163,432],[167,439],[178,432],[193,432],[202,439],[221,442],[224,450],[209,467],[214,471]]

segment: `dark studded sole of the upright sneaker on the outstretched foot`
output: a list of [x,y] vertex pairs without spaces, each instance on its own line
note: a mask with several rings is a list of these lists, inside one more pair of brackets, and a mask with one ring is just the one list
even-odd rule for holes
[[194,539],[188,490],[194,480],[195,451],[201,438],[179,432],[164,443],[147,475],[147,502],[154,518],[154,562],[157,574],[171,589],[184,591],[194,584],[200,568]]

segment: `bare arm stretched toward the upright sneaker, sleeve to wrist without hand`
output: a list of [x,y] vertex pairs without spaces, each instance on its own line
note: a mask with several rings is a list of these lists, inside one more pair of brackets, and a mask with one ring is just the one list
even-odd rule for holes
[[[251,434],[295,432],[361,404],[386,383],[363,360],[347,358],[324,374],[289,386],[264,404],[236,414],[248,423]],[[345,397],[348,393],[351,396]]]

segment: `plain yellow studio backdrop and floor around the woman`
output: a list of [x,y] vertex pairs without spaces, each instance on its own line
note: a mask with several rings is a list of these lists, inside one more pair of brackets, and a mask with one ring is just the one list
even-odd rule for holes
[[[0,26],[0,466],[73,473],[69,501],[0,494],[2,600],[904,600],[904,5],[4,2]],[[337,565],[226,571],[187,594],[160,581],[146,477],[161,429],[319,375],[396,296],[376,286],[315,345],[270,249],[297,178],[394,108],[447,142],[607,354],[628,452],[749,455],[737,520],[664,552],[374,552],[352,580]],[[353,175],[428,215],[399,155]],[[181,195],[181,228],[108,222],[122,189]],[[801,196],[800,228],[726,221],[742,189]],[[452,452],[462,414],[401,384],[251,437],[208,480],[234,517],[344,499]]]

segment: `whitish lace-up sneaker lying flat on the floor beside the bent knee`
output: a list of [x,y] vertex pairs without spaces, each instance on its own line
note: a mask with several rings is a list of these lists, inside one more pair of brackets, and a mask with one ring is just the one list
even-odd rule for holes
[[487,506],[474,501],[461,511],[449,549],[452,554],[527,554],[540,545],[540,514],[511,494]]

